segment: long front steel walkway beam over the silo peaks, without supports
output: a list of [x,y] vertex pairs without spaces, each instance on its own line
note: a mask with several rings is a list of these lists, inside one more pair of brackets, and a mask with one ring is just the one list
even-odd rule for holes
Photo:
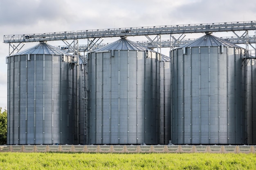
[[224,22],[212,24],[188,24],[171,26],[147,26],[135,28],[119,29],[97,29],[85,31],[65,31],[43,34],[23,34],[4,35],[4,43],[18,42],[40,42],[56,40],[75,40],[86,38],[106,38],[122,36],[142,36],[142,35],[164,35],[181,33],[205,33],[205,32],[225,32],[225,31],[249,31],[256,29],[256,22]]

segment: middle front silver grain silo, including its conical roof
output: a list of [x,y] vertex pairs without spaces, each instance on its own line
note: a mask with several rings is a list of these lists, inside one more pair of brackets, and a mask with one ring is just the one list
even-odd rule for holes
[[88,143],[158,144],[157,53],[126,38],[88,53]]

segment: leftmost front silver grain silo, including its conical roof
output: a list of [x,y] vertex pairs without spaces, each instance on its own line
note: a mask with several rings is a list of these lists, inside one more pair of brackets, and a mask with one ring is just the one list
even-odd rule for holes
[[76,57],[43,42],[7,64],[7,144],[73,144]]

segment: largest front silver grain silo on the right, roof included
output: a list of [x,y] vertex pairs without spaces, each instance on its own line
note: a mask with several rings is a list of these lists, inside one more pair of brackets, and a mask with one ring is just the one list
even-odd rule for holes
[[245,144],[242,51],[210,34],[171,51],[173,144]]

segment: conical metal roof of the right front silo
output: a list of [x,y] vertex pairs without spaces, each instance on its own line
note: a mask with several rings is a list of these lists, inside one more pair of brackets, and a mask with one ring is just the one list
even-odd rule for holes
[[182,46],[177,47],[176,49],[184,48],[184,47],[196,47],[196,46],[228,46],[228,47],[234,47],[234,48],[241,48],[240,46],[237,46],[235,44],[231,44],[225,40],[222,40],[216,36],[213,36],[211,34],[206,34],[193,42],[190,42],[188,44],[184,44]]

